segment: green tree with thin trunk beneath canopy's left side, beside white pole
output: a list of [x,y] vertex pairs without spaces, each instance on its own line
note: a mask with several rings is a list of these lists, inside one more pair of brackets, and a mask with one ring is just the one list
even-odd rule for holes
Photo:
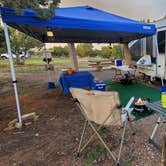
[[20,53],[27,53],[32,48],[41,48],[43,43],[14,28],[9,28],[12,52],[16,54],[16,63],[20,64]]

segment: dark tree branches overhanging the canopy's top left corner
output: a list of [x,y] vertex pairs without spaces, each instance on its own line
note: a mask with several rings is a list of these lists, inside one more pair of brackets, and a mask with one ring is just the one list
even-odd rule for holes
[[0,0],[1,5],[15,8],[17,14],[22,14],[23,8],[32,8],[37,12],[37,17],[44,20],[54,16],[59,3],[60,0]]

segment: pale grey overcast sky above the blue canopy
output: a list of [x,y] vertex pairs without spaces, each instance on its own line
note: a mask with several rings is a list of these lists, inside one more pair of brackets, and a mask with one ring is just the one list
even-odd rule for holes
[[60,7],[81,5],[90,5],[137,20],[158,20],[166,14],[166,0],[61,0]]

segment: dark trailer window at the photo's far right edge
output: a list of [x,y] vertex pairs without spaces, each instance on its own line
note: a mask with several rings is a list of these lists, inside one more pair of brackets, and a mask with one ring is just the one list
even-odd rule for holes
[[158,32],[159,53],[165,53],[165,31]]

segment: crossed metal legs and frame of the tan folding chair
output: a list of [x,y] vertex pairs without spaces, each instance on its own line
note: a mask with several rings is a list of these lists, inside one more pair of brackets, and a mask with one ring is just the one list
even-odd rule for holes
[[[98,133],[99,130],[102,128],[102,126],[106,123],[106,121],[111,117],[111,113],[105,118],[105,120],[103,121],[103,123],[96,129],[93,124],[91,123],[91,121],[88,119],[85,111],[84,111],[84,107],[83,105],[81,105],[79,103],[78,100],[75,100],[77,106],[79,107],[79,109],[81,110],[82,114],[84,115],[85,118],[85,123],[84,123],[84,127],[83,127],[83,131],[82,131],[82,135],[81,135],[81,139],[79,142],[79,146],[78,146],[78,150],[77,150],[77,157],[80,157],[80,153],[89,145],[90,141],[94,138],[94,136],[96,135],[98,137],[98,139],[101,141],[101,143],[103,144],[103,146],[105,147],[105,149],[108,151],[108,153],[110,154],[110,156],[113,158],[113,160],[116,162],[117,165],[120,164],[120,157],[121,157],[121,151],[122,151],[122,147],[123,147],[123,143],[124,143],[124,136],[125,136],[125,130],[126,130],[126,126],[127,126],[127,121],[129,120],[129,115],[128,115],[128,111],[127,109],[124,110],[124,112],[127,114],[127,119],[125,120],[125,123],[123,125],[123,132],[122,132],[122,136],[121,136],[121,143],[120,143],[120,148],[119,148],[119,153],[118,153],[118,157],[115,157],[115,154],[113,152],[111,152],[110,148],[107,146],[107,144],[105,143],[105,141],[103,140],[103,138],[100,136],[100,134]],[[125,108],[129,108],[130,105],[132,104],[132,102],[134,101],[134,98],[130,99],[130,101],[128,102],[127,106]],[[115,106],[113,109],[118,108],[118,106]],[[120,107],[119,107],[120,108]],[[113,110],[112,109],[112,110]],[[84,144],[84,146],[81,148],[82,142],[83,142],[83,138],[85,135],[85,131],[87,126],[90,126],[91,129],[94,131],[94,134],[89,138],[89,140]]]

